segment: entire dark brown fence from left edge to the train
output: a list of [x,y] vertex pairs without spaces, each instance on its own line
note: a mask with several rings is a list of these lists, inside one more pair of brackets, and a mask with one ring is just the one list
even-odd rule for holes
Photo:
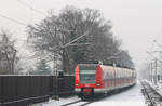
[[75,94],[75,77],[0,76],[0,106],[26,106],[46,102],[51,95]]

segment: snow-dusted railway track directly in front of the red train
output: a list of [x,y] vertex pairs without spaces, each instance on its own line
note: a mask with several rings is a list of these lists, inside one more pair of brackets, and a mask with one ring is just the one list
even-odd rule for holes
[[75,102],[71,102],[71,103],[64,104],[62,106],[70,106],[70,105],[85,106],[85,105],[91,104],[91,103],[93,103],[93,101],[92,102],[84,102],[84,101],[78,100],[78,101],[75,101]]

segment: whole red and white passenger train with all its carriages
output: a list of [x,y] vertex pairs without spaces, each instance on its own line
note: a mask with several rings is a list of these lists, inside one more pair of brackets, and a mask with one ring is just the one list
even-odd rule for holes
[[79,64],[75,70],[75,92],[86,100],[136,84],[134,69],[103,64]]

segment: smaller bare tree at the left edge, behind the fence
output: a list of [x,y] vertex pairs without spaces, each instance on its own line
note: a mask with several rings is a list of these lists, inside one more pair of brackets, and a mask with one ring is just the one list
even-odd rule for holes
[[17,52],[14,48],[15,41],[12,41],[5,31],[0,36],[0,74],[14,74]]

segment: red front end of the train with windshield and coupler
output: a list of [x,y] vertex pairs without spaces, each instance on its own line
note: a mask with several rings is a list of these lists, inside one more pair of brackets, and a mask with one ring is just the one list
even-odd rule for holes
[[97,64],[79,64],[76,67],[75,91],[82,100],[94,96],[103,88],[102,68]]

